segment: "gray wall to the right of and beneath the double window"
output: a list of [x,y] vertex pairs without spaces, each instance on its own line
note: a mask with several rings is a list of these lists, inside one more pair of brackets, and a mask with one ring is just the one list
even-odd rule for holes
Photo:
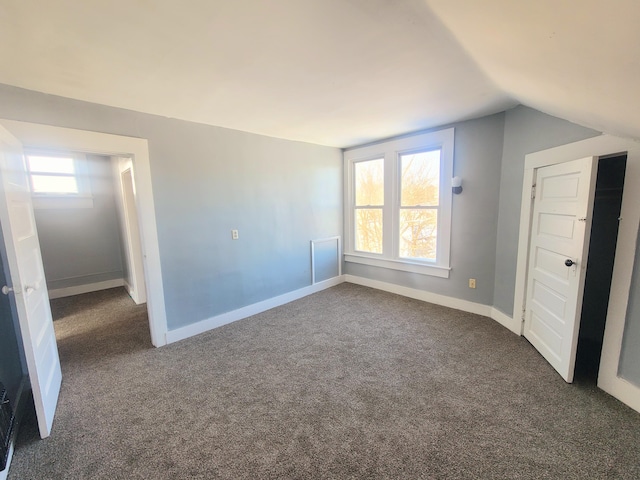
[[[450,126],[455,128],[454,175],[462,177],[463,186],[462,194],[453,196],[450,277],[355,263],[346,263],[345,273],[491,305],[504,114]],[[477,280],[475,290],[469,278]]]

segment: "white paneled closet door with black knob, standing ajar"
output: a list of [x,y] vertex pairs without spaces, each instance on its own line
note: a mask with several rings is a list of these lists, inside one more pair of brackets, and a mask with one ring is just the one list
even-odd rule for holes
[[597,157],[587,157],[536,174],[524,336],[567,382],[575,367],[597,166]]

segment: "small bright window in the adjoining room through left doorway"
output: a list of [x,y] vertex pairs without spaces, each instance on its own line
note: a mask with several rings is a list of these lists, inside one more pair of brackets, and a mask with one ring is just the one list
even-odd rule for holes
[[93,206],[83,154],[27,152],[34,208],[88,208]]

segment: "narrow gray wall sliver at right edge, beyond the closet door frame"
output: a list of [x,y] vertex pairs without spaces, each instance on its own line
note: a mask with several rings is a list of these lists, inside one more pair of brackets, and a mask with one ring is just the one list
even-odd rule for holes
[[640,238],[638,240],[618,374],[640,386]]

